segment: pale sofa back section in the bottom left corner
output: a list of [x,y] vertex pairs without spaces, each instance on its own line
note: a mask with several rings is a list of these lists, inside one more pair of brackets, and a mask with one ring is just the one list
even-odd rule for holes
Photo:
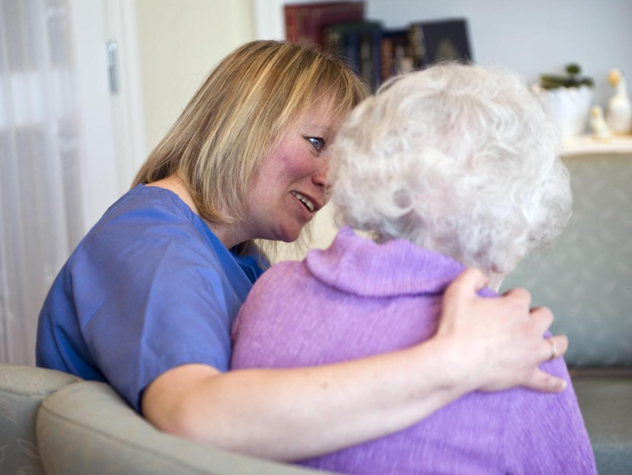
[[47,395],[80,381],[70,374],[0,364],[0,473],[44,474],[35,445],[35,414]]

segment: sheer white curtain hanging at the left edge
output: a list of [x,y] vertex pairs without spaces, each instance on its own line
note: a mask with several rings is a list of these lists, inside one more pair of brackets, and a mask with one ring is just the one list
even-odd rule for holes
[[0,362],[35,363],[37,315],[82,233],[66,0],[0,0]]

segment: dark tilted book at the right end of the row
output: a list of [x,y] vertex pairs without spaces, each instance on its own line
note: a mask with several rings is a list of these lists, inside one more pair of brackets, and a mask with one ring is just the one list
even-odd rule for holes
[[439,61],[473,61],[465,19],[413,23],[408,40],[416,69]]

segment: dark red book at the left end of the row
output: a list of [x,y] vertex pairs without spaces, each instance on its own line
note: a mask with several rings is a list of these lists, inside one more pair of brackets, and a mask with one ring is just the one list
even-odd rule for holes
[[301,3],[284,6],[286,39],[324,45],[324,28],[332,23],[361,22],[364,2]]

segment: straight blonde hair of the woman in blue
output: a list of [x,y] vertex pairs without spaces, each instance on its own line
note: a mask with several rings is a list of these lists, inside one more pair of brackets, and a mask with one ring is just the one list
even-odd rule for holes
[[243,221],[251,179],[289,125],[320,99],[344,118],[365,96],[341,59],[291,42],[246,43],[202,83],[132,186],[177,173],[202,218]]

